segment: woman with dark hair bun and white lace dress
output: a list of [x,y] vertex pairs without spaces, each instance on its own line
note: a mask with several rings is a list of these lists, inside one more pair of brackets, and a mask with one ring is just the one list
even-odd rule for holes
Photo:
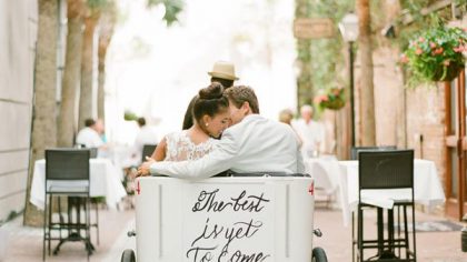
[[[230,122],[229,101],[223,87],[213,82],[201,89],[192,108],[193,125],[167,134],[157,145],[152,161],[196,160],[213,150],[215,143]],[[149,159],[149,158],[148,158]]]

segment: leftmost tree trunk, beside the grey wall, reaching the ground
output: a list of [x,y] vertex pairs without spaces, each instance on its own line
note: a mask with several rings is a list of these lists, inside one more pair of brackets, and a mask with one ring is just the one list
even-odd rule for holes
[[47,148],[53,148],[57,144],[57,0],[39,0],[31,158],[23,219],[23,223],[27,225],[40,225],[43,222],[42,212],[29,202],[34,161],[44,157]]

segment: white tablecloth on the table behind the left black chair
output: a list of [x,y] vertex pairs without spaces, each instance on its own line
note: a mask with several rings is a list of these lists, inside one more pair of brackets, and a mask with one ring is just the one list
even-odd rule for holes
[[[108,159],[90,159],[90,195],[106,196],[107,205],[116,208],[117,203],[127,195],[121,184],[119,172]],[[31,184],[31,196],[29,201],[43,210],[46,196],[46,160],[41,159],[34,163],[34,173]]]

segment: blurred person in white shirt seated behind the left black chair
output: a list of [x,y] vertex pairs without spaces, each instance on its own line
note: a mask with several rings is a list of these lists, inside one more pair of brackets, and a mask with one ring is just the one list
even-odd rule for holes
[[103,124],[101,120],[93,119],[85,120],[85,128],[78,132],[77,144],[82,144],[86,148],[107,149],[101,135],[103,132]]

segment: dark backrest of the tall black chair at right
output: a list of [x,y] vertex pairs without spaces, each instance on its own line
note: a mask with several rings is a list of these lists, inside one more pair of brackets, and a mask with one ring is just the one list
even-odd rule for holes
[[359,189],[414,189],[414,150],[361,151]]

